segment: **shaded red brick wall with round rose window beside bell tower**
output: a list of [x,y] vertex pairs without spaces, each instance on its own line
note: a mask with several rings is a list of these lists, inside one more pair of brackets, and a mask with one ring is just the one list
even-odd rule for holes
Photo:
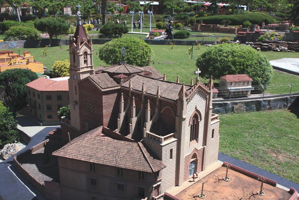
[[[90,80],[78,84],[78,92],[80,131],[85,133],[103,125],[103,94]],[[86,105],[88,101],[91,101],[94,105],[94,114],[87,112]]]

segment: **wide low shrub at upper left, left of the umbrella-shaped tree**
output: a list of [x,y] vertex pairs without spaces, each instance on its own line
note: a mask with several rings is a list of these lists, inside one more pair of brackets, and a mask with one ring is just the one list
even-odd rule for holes
[[25,26],[12,26],[5,31],[5,35],[7,37],[18,36],[22,37],[26,40],[39,40],[40,34],[39,31],[33,27],[25,27]]

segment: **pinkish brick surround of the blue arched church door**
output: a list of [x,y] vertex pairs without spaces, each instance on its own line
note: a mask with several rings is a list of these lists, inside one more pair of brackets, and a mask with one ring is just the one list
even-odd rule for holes
[[195,161],[195,170],[197,170],[197,172],[202,171],[202,161],[203,161],[203,156],[204,156],[203,151],[204,151],[204,148],[201,148],[199,150],[194,148],[194,150],[191,152],[191,154],[189,154],[188,156],[185,157],[184,181],[187,181],[189,179],[189,165],[190,165],[190,160],[191,160],[193,154],[195,154],[196,158],[197,158],[197,160]]

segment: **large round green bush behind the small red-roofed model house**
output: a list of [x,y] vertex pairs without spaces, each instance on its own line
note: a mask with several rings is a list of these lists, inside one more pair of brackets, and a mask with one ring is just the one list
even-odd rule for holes
[[219,79],[227,74],[247,74],[253,79],[252,85],[269,84],[273,76],[273,69],[262,52],[239,44],[209,47],[197,58],[196,68],[202,71],[199,76],[206,79],[211,75]]

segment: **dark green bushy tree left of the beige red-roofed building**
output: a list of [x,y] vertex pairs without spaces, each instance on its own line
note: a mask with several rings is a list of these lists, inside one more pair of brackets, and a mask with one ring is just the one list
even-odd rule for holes
[[9,69],[0,73],[0,101],[4,105],[14,105],[16,110],[27,105],[27,88],[25,84],[37,79],[31,70]]

